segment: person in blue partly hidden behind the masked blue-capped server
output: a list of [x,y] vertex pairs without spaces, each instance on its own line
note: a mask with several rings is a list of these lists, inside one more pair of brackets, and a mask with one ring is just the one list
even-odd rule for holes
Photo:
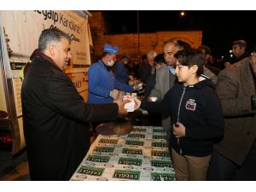
[[129,82],[129,75],[127,73],[127,69],[125,65],[129,62],[130,55],[123,55],[122,59],[120,61],[117,61],[114,65],[114,77],[115,79],[118,79],[119,82],[128,84]]

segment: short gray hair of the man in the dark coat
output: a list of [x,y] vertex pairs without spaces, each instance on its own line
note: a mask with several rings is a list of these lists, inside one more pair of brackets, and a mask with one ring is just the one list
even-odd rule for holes
[[38,49],[42,52],[47,48],[50,43],[60,43],[61,38],[66,38],[68,43],[71,43],[71,38],[67,35],[67,33],[62,32],[60,29],[57,28],[49,28],[44,29],[41,33],[39,40],[38,40]]

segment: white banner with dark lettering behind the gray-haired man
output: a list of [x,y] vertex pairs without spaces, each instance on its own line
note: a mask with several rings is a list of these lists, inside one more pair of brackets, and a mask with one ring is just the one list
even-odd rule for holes
[[38,48],[41,32],[57,27],[72,38],[73,67],[90,65],[88,20],[73,11],[0,11],[12,54],[30,56]]

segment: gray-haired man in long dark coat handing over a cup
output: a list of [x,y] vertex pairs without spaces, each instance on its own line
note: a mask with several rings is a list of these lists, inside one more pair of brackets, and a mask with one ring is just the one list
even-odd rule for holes
[[21,89],[32,180],[68,180],[90,148],[88,121],[116,119],[124,103],[89,105],[64,73],[70,38],[46,29]]

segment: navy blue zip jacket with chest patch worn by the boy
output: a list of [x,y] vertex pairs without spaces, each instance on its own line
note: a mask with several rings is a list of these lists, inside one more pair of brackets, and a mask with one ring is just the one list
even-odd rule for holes
[[179,142],[170,127],[170,145],[179,154],[207,156],[224,135],[224,117],[211,79],[186,87],[175,84],[161,102],[142,102],[141,108],[171,113],[172,125],[180,122],[186,127]]

